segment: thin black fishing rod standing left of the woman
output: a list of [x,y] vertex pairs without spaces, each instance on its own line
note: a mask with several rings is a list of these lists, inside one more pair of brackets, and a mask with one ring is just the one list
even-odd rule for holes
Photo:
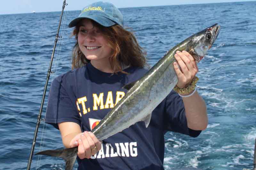
[[30,170],[30,166],[31,166],[31,162],[32,162],[32,157],[33,157],[33,153],[34,153],[34,149],[35,149],[35,145],[36,145],[36,137],[37,137],[39,125],[40,125],[40,122],[41,122],[41,115],[42,115],[42,111],[43,111],[44,99],[45,99],[45,94],[46,94],[46,90],[47,90],[47,85],[48,85],[50,75],[52,73],[51,68],[52,68],[53,56],[54,56],[54,52],[55,52],[55,48],[56,48],[56,45],[57,45],[58,38],[61,38],[61,36],[59,36],[60,24],[61,24],[63,11],[64,11],[64,8],[65,8],[66,5],[68,5],[68,4],[66,4],[66,0],[64,0],[63,5],[62,5],[61,15],[60,15],[58,31],[57,31],[57,34],[56,34],[56,37],[55,37],[55,42],[54,42],[54,46],[53,46],[53,50],[52,50],[52,58],[51,58],[50,66],[49,66],[49,69],[48,69],[46,82],[45,82],[45,85],[44,85],[44,93],[43,93],[43,98],[42,98],[42,102],[41,102],[41,107],[40,107],[39,114],[38,114],[38,117],[37,117],[36,130],[35,130],[35,134],[34,134],[34,139],[33,139],[32,147],[31,147],[30,156],[29,156],[29,159],[28,159],[27,170]]

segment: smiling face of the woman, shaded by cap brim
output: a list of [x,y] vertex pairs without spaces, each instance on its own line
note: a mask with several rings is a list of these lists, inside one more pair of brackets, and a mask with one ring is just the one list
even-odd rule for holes
[[[108,46],[107,39],[99,28],[93,26],[90,19],[80,21],[78,45],[84,56],[97,65],[109,65],[108,58],[112,49]],[[94,64],[93,64],[94,65]]]

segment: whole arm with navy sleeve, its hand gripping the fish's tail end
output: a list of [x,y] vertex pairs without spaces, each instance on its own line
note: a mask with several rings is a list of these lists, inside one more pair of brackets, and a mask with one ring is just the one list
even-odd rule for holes
[[92,133],[82,133],[75,102],[77,99],[67,83],[73,82],[72,78],[72,75],[64,74],[53,80],[45,120],[60,129],[62,142],[66,148],[78,146],[78,157],[90,158],[101,149],[101,143]]

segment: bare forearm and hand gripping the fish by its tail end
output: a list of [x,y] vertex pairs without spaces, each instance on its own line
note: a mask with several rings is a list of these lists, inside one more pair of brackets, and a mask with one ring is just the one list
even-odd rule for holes
[[[74,122],[58,123],[62,142],[66,148],[78,146],[80,159],[91,158],[101,149],[101,142],[91,132],[82,132],[79,124]],[[94,149],[96,148],[96,149]]]

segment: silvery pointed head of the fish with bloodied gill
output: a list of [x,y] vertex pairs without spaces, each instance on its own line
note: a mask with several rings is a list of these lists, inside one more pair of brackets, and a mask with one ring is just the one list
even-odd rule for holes
[[192,48],[190,54],[195,58],[196,62],[200,62],[212,44],[217,39],[220,32],[220,26],[214,24],[203,31],[196,33],[190,37]]

